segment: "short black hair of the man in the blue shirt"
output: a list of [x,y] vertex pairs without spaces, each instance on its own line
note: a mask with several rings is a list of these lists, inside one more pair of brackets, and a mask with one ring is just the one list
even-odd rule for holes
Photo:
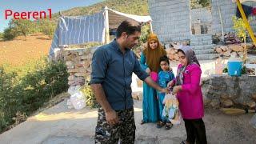
[[135,21],[125,20],[118,26],[117,38],[120,38],[123,32],[130,35],[136,31],[141,32],[141,25]]

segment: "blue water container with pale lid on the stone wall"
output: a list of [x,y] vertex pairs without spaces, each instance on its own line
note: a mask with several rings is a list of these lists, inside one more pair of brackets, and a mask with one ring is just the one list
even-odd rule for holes
[[227,71],[230,76],[241,76],[242,60],[238,58],[229,59],[227,62]]

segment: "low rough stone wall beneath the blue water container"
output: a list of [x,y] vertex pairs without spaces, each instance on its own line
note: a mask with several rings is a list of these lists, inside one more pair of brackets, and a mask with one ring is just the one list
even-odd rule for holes
[[226,74],[211,74],[206,100],[214,108],[242,107],[254,109],[256,106],[256,76],[243,74],[230,77]]

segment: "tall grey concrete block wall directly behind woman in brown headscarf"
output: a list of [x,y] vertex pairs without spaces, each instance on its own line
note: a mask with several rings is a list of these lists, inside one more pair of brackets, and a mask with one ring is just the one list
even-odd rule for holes
[[190,0],[149,0],[153,30],[161,42],[190,39]]

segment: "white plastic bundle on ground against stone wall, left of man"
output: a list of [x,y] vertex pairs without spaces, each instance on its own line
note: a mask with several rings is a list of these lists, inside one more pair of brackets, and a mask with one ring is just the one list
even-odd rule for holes
[[75,110],[82,110],[86,106],[86,102],[84,100],[84,96],[81,91],[76,91],[74,94],[70,96],[70,101],[74,106]]

